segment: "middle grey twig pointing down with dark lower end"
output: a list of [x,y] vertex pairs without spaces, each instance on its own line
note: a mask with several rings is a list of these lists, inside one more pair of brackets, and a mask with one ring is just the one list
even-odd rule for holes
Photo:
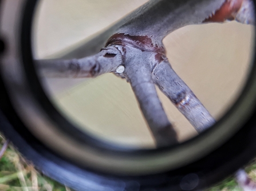
[[156,146],[164,147],[178,143],[176,132],[157,96],[148,64],[144,60],[135,59],[125,67],[125,75],[131,83],[141,111],[155,137]]

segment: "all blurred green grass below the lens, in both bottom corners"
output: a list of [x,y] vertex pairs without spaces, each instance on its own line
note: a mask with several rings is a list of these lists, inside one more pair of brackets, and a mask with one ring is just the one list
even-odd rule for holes
[[[0,135],[0,149],[5,140]],[[256,161],[246,167],[250,178],[256,180]],[[70,191],[66,186],[45,177],[32,164],[27,163],[9,145],[0,160],[0,191]],[[206,191],[242,191],[233,176],[219,182]]]

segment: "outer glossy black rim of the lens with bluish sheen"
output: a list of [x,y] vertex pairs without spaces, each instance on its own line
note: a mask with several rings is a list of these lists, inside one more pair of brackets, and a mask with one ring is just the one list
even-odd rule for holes
[[[32,3],[32,5],[30,3]],[[31,11],[30,6],[35,5],[36,1],[27,1],[26,7],[29,8],[25,10]],[[255,75],[255,71],[251,75]],[[235,170],[242,165],[245,165],[256,155],[256,111],[254,109],[253,115],[246,124],[243,125],[243,128],[223,144],[222,147],[217,148],[209,155],[182,168],[159,174],[133,177],[113,176],[111,174],[97,172],[96,170],[86,169],[58,156],[55,152],[45,147],[44,144],[38,141],[36,137],[27,130],[25,125],[19,120],[19,117],[16,115],[10,103],[2,79],[0,81],[0,87],[1,90],[3,90],[3,94],[0,94],[1,110],[5,113],[5,116],[3,116],[2,113],[0,115],[1,131],[13,141],[19,151],[27,159],[33,161],[38,168],[44,170],[48,176],[72,188],[79,190],[86,188],[85,183],[81,181],[82,177],[90,178],[97,182],[97,184],[107,186],[106,188],[112,188],[113,190],[120,190],[121,182],[126,185],[126,190],[181,190],[179,183],[182,181],[182,178],[187,174],[195,173],[198,174],[199,184],[192,190],[198,190],[216,181],[222,180],[230,173],[235,172]],[[241,140],[243,140],[242,144]],[[63,173],[60,174],[60,172]],[[78,183],[70,180],[70,176],[77,178]],[[115,182],[116,185],[111,184],[111,182]],[[139,187],[137,185],[139,185]],[[133,189],[132,186],[135,186],[136,189]]]

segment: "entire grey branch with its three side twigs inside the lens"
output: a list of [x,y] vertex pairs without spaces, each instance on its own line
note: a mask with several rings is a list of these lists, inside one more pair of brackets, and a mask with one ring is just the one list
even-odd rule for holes
[[[157,96],[155,84],[190,121],[196,131],[202,132],[211,127],[215,120],[172,69],[166,58],[163,38],[186,25],[233,19],[254,24],[253,2],[251,0],[149,1],[97,36],[97,39],[93,39],[95,41],[93,48],[97,47],[98,50],[105,42],[105,47],[99,53],[81,59],[36,60],[36,62],[40,73],[48,77],[94,78],[113,72],[127,79],[155,137],[157,147],[166,147],[178,143],[178,139]],[[88,47],[90,43],[93,42],[89,41]]]

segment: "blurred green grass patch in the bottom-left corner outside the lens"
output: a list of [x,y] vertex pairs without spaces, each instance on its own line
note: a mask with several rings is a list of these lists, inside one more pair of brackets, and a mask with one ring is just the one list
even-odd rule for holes
[[[5,143],[0,136],[0,149]],[[45,177],[26,162],[9,145],[0,160],[0,191],[70,191],[64,185]]]

